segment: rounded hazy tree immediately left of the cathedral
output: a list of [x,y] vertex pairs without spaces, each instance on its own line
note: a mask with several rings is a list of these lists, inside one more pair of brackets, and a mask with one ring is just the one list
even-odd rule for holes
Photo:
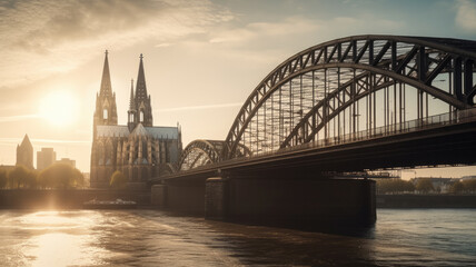
[[71,188],[83,185],[83,176],[77,169],[66,164],[54,164],[43,169],[38,176],[41,188]]

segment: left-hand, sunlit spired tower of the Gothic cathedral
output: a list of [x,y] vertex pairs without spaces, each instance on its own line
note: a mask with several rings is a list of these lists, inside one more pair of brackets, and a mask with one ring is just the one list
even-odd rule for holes
[[99,125],[118,125],[118,115],[116,107],[116,93],[112,92],[111,77],[109,73],[108,50],[106,50],[105,67],[102,69],[101,88],[96,95],[96,111],[95,111],[95,137],[96,126]]

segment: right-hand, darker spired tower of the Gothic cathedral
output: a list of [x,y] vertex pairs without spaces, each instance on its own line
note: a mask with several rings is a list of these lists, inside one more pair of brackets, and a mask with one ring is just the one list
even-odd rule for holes
[[147,95],[146,75],[143,72],[142,55],[140,55],[139,73],[137,76],[136,93],[131,88],[129,101],[129,130],[132,131],[137,123],[143,127],[152,127],[152,107],[150,105],[150,95]]

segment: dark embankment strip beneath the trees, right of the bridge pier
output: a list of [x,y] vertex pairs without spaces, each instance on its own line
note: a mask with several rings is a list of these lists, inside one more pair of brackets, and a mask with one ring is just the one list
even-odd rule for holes
[[377,195],[377,208],[476,208],[476,195]]

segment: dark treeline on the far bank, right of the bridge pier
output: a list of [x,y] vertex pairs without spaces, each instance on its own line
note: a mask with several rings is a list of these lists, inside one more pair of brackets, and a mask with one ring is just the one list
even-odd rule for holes
[[[378,194],[408,194],[408,192],[439,192],[440,188],[435,188],[430,179],[418,179],[416,184],[411,180],[401,179],[379,179],[377,180]],[[455,181],[449,186],[450,194],[475,194],[476,179]]]

